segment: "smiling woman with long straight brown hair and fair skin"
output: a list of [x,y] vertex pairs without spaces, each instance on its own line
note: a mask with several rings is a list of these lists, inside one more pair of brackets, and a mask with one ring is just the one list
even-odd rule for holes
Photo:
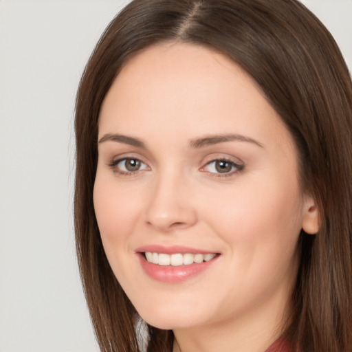
[[352,351],[351,123],[348,69],[298,1],[122,10],[76,102],[101,350],[142,351],[146,327],[147,351]]

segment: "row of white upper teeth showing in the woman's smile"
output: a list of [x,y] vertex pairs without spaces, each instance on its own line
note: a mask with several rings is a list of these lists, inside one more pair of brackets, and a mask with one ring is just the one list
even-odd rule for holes
[[153,264],[159,265],[172,265],[174,267],[179,265],[190,265],[192,263],[203,263],[203,261],[211,261],[216,254],[165,254],[165,253],[154,253],[145,252],[146,261]]

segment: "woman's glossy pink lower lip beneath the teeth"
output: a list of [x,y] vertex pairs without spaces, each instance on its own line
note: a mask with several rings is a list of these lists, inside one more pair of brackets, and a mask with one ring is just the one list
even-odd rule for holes
[[192,278],[198,274],[201,274],[204,270],[208,269],[210,265],[216,261],[218,256],[210,261],[203,261],[203,263],[193,263],[189,265],[157,265],[149,263],[144,258],[144,254],[139,254],[140,263],[144,272],[156,281],[161,281],[163,283],[181,283]]

